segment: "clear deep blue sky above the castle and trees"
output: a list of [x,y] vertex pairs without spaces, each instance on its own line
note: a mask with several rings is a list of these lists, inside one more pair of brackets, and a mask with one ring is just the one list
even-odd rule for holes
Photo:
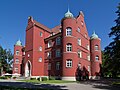
[[[74,16],[83,11],[89,36],[95,31],[101,38],[102,50],[111,41],[108,33],[115,25],[118,3],[119,0],[69,0]],[[25,43],[28,16],[53,28],[60,24],[67,7],[68,0],[0,0],[0,45],[13,52],[18,39]]]

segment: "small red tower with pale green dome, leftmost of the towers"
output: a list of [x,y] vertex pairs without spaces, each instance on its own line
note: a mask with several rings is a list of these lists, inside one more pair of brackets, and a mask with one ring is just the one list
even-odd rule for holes
[[22,43],[20,40],[14,45],[13,75],[21,75]]

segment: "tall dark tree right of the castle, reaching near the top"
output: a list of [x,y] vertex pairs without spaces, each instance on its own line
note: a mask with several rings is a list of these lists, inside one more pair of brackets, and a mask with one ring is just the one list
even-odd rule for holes
[[103,66],[112,77],[120,75],[120,3],[117,9],[116,25],[111,28],[111,32],[109,33],[109,37],[113,41],[104,50],[105,61]]

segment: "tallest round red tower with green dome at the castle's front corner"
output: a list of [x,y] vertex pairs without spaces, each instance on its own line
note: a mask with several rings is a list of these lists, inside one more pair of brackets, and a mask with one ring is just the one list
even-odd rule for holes
[[77,39],[75,38],[77,25],[76,19],[69,11],[61,21],[62,25],[62,43],[63,43],[63,61],[62,61],[62,80],[75,80],[76,58],[77,58]]

